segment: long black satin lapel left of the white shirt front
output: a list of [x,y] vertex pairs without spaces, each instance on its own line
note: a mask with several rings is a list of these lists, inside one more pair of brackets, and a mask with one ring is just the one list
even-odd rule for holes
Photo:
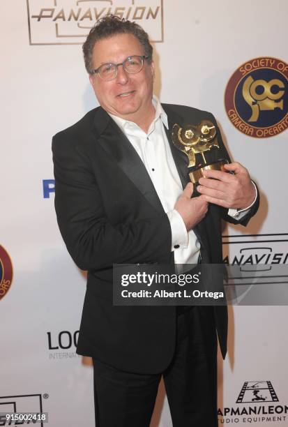
[[164,213],[158,194],[137,151],[119,126],[102,108],[96,111],[94,126],[98,134],[97,143],[105,149],[109,156],[114,158],[117,165],[146,197],[146,200],[158,212]]

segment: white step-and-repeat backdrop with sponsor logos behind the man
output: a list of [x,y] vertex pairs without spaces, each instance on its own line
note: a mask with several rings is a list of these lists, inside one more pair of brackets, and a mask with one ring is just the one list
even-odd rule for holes
[[[286,1],[2,0],[0,412],[43,410],[52,427],[93,426],[91,363],[75,354],[85,273],[56,225],[50,147],[97,105],[81,44],[106,13],[146,29],[157,95],[213,112],[261,188],[248,227],[223,231],[225,260],[288,264]],[[219,425],[288,426],[287,314],[229,306]],[[151,425],[172,426],[162,388]]]

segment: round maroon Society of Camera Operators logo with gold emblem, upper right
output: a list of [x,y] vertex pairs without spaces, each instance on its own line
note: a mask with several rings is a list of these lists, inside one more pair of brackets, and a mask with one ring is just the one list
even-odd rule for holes
[[260,57],[243,63],[225,91],[230,121],[245,135],[267,138],[288,127],[288,65]]

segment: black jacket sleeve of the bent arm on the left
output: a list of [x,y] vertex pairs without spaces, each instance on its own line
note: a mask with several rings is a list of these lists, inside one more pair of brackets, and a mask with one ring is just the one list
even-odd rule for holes
[[164,211],[148,218],[135,215],[135,219],[112,225],[89,154],[61,133],[53,137],[52,151],[57,221],[80,269],[105,269],[114,263],[169,262],[172,237]]

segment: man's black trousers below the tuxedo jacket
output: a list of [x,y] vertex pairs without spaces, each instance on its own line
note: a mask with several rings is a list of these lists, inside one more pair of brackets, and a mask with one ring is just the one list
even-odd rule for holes
[[217,427],[213,307],[177,316],[174,357],[159,374],[124,372],[93,359],[96,427],[149,427],[163,376],[174,427]]

